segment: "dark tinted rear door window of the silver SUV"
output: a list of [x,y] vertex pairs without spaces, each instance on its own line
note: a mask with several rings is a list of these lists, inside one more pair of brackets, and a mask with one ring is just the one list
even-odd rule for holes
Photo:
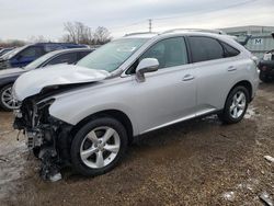
[[218,41],[210,37],[190,37],[193,62],[224,58],[224,49]]

